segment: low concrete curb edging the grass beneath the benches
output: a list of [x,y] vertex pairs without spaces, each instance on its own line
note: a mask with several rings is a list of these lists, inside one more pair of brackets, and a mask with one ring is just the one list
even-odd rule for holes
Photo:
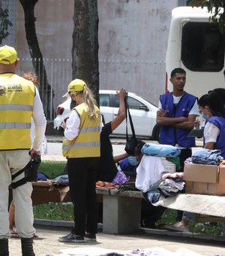
[[[34,225],[48,226],[48,227],[73,227],[74,221],[54,221],[54,220],[45,220],[45,219],[34,219]],[[98,224],[98,230],[102,230],[103,224]],[[216,242],[225,242],[225,236],[217,235],[205,235],[202,233],[191,233],[191,232],[173,232],[169,230],[157,230],[151,228],[140,227],[139,231],[142,233],[157,235],[157,236],[175,236],[181,238],[191,238],[199,240],[209,240]]]

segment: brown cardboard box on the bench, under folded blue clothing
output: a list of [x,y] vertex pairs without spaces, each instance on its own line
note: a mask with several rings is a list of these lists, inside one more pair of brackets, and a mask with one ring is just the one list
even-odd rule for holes
[[225,195],[225,166],[185,164],[184,181],[187,194]]

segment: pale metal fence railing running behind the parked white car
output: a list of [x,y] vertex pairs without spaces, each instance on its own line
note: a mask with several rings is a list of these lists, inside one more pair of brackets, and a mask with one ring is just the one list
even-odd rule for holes
[[[72,80],[72,59],[43,59],[46,77],[41,77],[40,70],[39,93],[47,120],[53,120],[58,104],[65,99],[68,84]],[[34,59],[34,66],[40,65],[39,59]],[[32,59],[20,59],[18,75],[24,72],[34,72]],[[138,93],[145,99],[157,104],[159,92],[163,91],[165,70],[164,62],[147,60],[112,60],[99,59],[100,89],[118,90],[121,87],[133,93]]]

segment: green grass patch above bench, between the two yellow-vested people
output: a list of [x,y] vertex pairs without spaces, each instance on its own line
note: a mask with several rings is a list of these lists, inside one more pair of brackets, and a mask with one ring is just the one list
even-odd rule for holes
[[45,173],[49,179],[54,179],[60,175],[64,175],[65,162],[58,161],[42,161],[40,163],[40,172]]

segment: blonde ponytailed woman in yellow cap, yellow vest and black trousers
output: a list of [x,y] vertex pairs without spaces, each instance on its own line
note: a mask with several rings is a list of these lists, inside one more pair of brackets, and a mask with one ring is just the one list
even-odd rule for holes
[[71,96],[71,100],[76,102],[67,123],[62,123],[65,129],[62,152],[68,159],[76,226],[58,241],[96,241],[98,212],[95,187],[100,166],[101,114],[92,91],[84,81],[71,81],[65,96]]

